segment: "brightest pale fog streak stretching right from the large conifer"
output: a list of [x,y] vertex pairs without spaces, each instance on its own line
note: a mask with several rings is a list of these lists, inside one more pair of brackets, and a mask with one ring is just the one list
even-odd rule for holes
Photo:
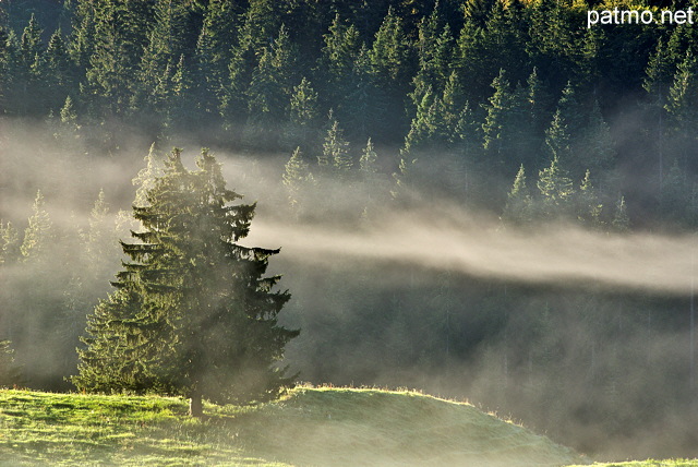
[[694,236],[609,235],[569,225],[504,228],[457,208],[390,213],[368,228],[289,225],[260,218],[245,243],[282,246],[287,261],[329,267],[412,264],[528,284],[624,287],[688,295]]

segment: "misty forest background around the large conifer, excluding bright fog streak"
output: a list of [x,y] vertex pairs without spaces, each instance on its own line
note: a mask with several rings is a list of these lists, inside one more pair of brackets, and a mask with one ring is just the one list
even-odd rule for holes
[[[70,388],[134,228],[87,180],[135,177],[153,142],[149,170],[192,142],[244,155],[240,183],[292,224],[448,200],[502,229],[694,232],[698,26],[587,28],[589,8],[689,5],[1,1],[0,340],[23,384]],[[87,215],[47,207],[68,192]],[[284,267],[304,381],[468,397],[589,454],[698,455],[691,297]]]

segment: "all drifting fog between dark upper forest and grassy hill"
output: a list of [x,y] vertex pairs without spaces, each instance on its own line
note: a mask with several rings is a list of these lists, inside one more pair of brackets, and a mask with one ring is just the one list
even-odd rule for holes
[[[94,153],[13,124],[20,136],[2,148],[0,217],[22,236],[41,190],[60,235],[48,262],[2,266],[0,339],[13,340],[34,386],[64,388],[56,381],[74,374],[70,351],[84,316],[120,267],[116,239],[135,228],[118,213],[133,202],[132,179],[152,142],[134,136]],[[205,144],[177,141],[156,153],[171,145],[184,147],[193,167]],[[419,189],[396,203],[389,173],[370,182],[314,173],[299,214],[281,183],[290,153],[213,153],[228,187],[258,203],[242,243],[281,248],[270,272],[284,274],[280,287],[292,294],[282,321],[301,328],[287,352],[301,381],[468,398],[599,456],[697,454],[688,429],[695,237],[573,221],[516,227]],[[381,157],[388,167],[395,160]],[[71,238],[89,229],[100,189],[107,253],[99,264],[71,263]]]

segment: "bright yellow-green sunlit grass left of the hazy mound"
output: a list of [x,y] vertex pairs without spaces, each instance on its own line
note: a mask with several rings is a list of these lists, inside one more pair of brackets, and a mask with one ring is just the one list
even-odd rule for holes
[[[0,392],[0,465],[264,465],[182,399]],[[208,406],[214,410],[216,407]]]

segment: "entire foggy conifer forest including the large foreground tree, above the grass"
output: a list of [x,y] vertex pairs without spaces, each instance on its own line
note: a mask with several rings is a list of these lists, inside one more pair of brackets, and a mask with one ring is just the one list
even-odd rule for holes
[[698,456],[698,25],[614,9],[698,2],[0,0],[0,386]]

